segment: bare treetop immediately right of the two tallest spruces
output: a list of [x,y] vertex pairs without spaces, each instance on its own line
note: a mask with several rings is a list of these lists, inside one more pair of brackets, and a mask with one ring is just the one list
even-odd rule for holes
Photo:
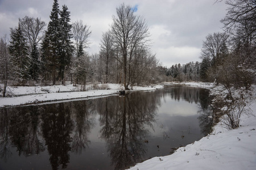
[[72,24],[72,34],[75,39],[75,48],[77,57],[82,56],[84,48],[88,47],[89,37],[92,31],[89,30],[88,25],[83,25],[82,20],[76,21]]

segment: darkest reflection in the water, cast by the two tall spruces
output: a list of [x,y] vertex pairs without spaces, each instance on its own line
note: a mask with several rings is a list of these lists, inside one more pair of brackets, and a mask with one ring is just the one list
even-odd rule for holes
[[42,114],[43,137],[46,141],[52,169],[67,168],[71,150],[70,142],[73,124],[70,116],[70,107],[64,103],[51,105]]

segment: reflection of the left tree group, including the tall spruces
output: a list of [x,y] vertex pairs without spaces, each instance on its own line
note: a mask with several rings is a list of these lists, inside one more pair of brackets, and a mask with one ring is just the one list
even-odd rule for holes
[[93,113],[92,100],[0,109],[1,159],[11,157],[11,146],[19,156],[38,155],[45,143],[52,169],[67,168],[69,152],[81,154],[88,146]]

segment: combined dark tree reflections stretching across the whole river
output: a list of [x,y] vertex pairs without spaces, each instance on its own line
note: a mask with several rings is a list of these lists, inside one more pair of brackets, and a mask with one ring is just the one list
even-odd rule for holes
[[[71,155],[81,155],[85,159],[85,153],[93,154],[91,152],[94,150],[88,148],[93,129],[94,132],[98,130],[101,140],[105,141],[102,145],[106,145],[112,166],[115,169],[129,168],[149,157],[151,141],[146,142],[152,131],[157,128],[159,131],[159,127],[155,126],[156,116],[163,100],[170,101],[171,98],[196,103],[199,107],[201,133],[207,135],[209,125],[212,124],[209,119],[212,114],[210,99],[207,96],[208,91],[201,88],[170,86],[164,90],[134,92],[123,97],[108,96],[93,100],[2,108],[1,160],[7,162],[11,159],[15,162],[16,160],[12,160],[17,158],[15,155],[29,159],[32,155],[47,155],[42,153],[48,152],[46,158],[49,159],[51,169],[65,169],[69,166],[73,169],[76,162],[71,162]],[[171,112],[172,108],[168,109],[170,110],[167,112]],[[99,119],[96,120],[96,117]],[[168,124],[170,120],[165,121]],[[5,164],[4,162],[1,164]],[[23,161],[22,164],[26,162]],[[24,165],[26,166],[28,167]]]

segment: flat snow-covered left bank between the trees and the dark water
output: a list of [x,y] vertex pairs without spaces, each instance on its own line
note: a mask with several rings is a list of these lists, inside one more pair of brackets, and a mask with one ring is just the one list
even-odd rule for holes
[[[3,84],[0,84],[1,87]],[[79,88],[72,84],[67,86],[37,86],[37,87],[8,87],[7,92],[15,97],[0,97],[0,107],[35,104],[46,101],[80,99],[86,97],[105,96],[118,94],[123,89],[120,84],[108,84],[108,90],[78,91]],[[154,87],[134,86],[132,91],[148,91],[163,88],[161,85]]]

